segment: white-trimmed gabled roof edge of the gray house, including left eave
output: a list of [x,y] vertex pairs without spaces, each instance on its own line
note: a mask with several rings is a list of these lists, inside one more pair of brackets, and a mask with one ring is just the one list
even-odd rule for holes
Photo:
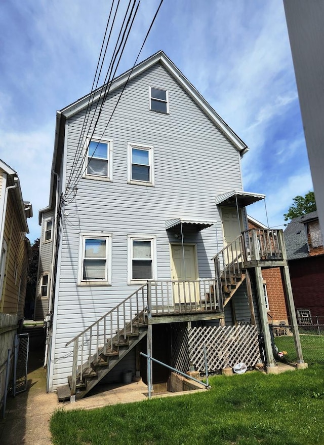
[[[176,67],[176,65],[169,59],[168,56],[163,51],[158,51],[152,56],[148,57],[143,62],[136,65],[134,68],[129,69],[120,76],[116,77],[110,82],[109,94],[118,89],[119,87],[125,85],[126,82],[133,80],[141,73],[151,68],[153,65],[160,63],[166,68],[166,70],[171,74],[171,76],[178,82],[178,84],[186,91],[186,93],[191,97],[191,99],[199,106],[201,110],[208,116],[208,118],[214,123],[214,125],[221,131],[221,133],[234,145],[236,150],[241,156],[243,156],[249,149],[248,146],[243,142],[237,134],[223,121],[223,119],[216,113],[214,108],[204,99],[203,96],[195,89],[195,87],[188,81],[188,79],[182,74],[182,72]],[[55,176],[54,172],[59,172],[60,159],[63,151],[64,143],[64,128],[65,120],[71,118],[75,114],[79,113],[83,109],[87,108],[89,100],[96,103],[98,100],[103,98],[106,90],[106,85],[98,88],[92,94],[87,94],[86,96],[76,100],[65,108],[57,112],[56,115],[56,132],[55,132],[55,143],[54,143],[54,154],[52,162],[52,175],[51,175],[51,186],[50,186],[50,206],[54,206],[53,202],[53,190],[55,187]]]

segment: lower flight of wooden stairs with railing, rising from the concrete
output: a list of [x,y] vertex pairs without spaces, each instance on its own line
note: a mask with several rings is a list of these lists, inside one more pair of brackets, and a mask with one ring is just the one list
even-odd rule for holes
[[[69,400],[73,395],[75,399],[83,398],[146,336],[145,289],[140,287],[66,344],[73,343],[72,375],[67,385],[57,388],[59,401]],[[85,360],[86,351],[89,356]]]

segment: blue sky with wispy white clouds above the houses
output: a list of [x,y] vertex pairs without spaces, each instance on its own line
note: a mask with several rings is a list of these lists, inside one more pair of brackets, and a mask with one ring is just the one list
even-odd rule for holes
[[[158,3],[142,0],[118,73],[133,65]],[[48,205],[56,110],[91,91],[109,8],[0,4],[0,158],[32,202],[32,242]],[[312,182],[282,0],[165,0],[139,61],[160,49],[247,143],[244,189],[266,194],[270,227],[284,224]],[[248,212],[266,224],[263,202]]]

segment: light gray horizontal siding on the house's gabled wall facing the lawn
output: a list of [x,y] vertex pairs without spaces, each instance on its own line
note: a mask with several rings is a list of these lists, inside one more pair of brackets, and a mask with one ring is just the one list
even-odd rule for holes
[[[168,90],[170,115],[149,110],[149,86]],[[127,235],[156,236],[157,279],[170,279],[170,243],[179,240],[165,230],[165,221],[217,221],[200,232],[184,233],[184,242],[197,246],[199,277],[213,277],[211,258],[223,247],[215,196],[242,190],[237,150],[161,65],[126,87],[106,129],[119,92],[106,100],[93,136],[104,132],[103,140],[113,140],[113,181],[80,178],[75,199],[70,196],[64,207],[52,389],[66,383],[71,372],[67,354],[72,345],[66,348],[66,342],[139,287],[127,285]],[[74,157],[84,116],[81,112],[68,121],[66,181],[71,169],[83,169]],[[154,187],[127,183],[128,142],[154,147]],[[80,233],[101,231],[112,234],[111,286],[77,286]]]

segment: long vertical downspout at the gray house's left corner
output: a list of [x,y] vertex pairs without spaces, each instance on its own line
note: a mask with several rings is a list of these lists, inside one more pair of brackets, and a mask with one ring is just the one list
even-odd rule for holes
[[[55,209],[54,209],[54,224],[53,224],[53,240],[52,240],[52,264],[51,264],[51,285],[50,285],[50,295],[49,295],[49,302],[48,302],[48,313],[46,314],[45,323],[46,323],[46,344],[45,344],[45,354],[44,354],[44,367],[47,366],[47,369],[49,370],[50,366],[48,366],[48,361],[50,360],[49,357],[49,342],[51,339],[51,329],[52,329],[52,304],[53,304],[53,291],[54,291],[54,267],[55,267],[55,252],[56,252],[56,238],[57,238],[57,205],[58,205],[58,188],[59,188],[59,175],[54,170],[52,171],[56,175],[56,197],[55,197]],[[49,392],[48,387],[49,382],[49,376],[47,376],[47,388],[46,392]]]

